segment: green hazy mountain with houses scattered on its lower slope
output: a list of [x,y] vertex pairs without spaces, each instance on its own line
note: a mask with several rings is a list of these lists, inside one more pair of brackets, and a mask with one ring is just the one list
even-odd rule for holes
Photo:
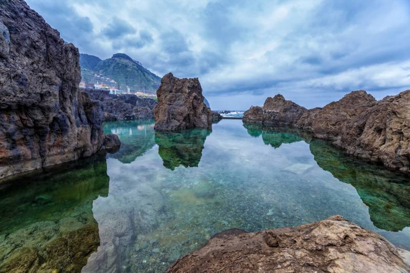
[[129,86],[131,91],[145,90],[146,93],[155,94],[161,83],[160,77],[124,53],[114,54],[105,60],[80,54],[80,66],[83,81],[109,83],[121,90]]

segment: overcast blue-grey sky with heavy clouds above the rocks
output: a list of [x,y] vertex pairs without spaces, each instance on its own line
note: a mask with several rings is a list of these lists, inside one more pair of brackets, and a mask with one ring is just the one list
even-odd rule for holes
[[410,89],[407,0],[26,0],[81,53],[199,77],[215,110]]

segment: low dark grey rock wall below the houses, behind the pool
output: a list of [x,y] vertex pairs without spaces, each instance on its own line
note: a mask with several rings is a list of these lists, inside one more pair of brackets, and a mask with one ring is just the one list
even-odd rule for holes
[[134,120],[153,118],[153,109],[157,105],[152,98],[139,98],[135,95],[113,95],[107,90],[85,90],[91,98],[101,101],[104,109],[104,121]]

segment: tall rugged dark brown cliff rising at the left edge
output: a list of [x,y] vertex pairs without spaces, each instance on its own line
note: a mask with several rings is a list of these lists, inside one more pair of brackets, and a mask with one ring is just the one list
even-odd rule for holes
[[78,49],[24,1],[0,10],[0,179],[104,148],[101,104],[78,91]]

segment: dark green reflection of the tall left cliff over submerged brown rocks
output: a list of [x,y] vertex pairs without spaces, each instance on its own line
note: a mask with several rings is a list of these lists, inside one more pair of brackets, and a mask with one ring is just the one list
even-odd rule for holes
[[99,245],[92,202],[108,195],[105,155],[36,174],[0,191],[0,271],[80,271]]

